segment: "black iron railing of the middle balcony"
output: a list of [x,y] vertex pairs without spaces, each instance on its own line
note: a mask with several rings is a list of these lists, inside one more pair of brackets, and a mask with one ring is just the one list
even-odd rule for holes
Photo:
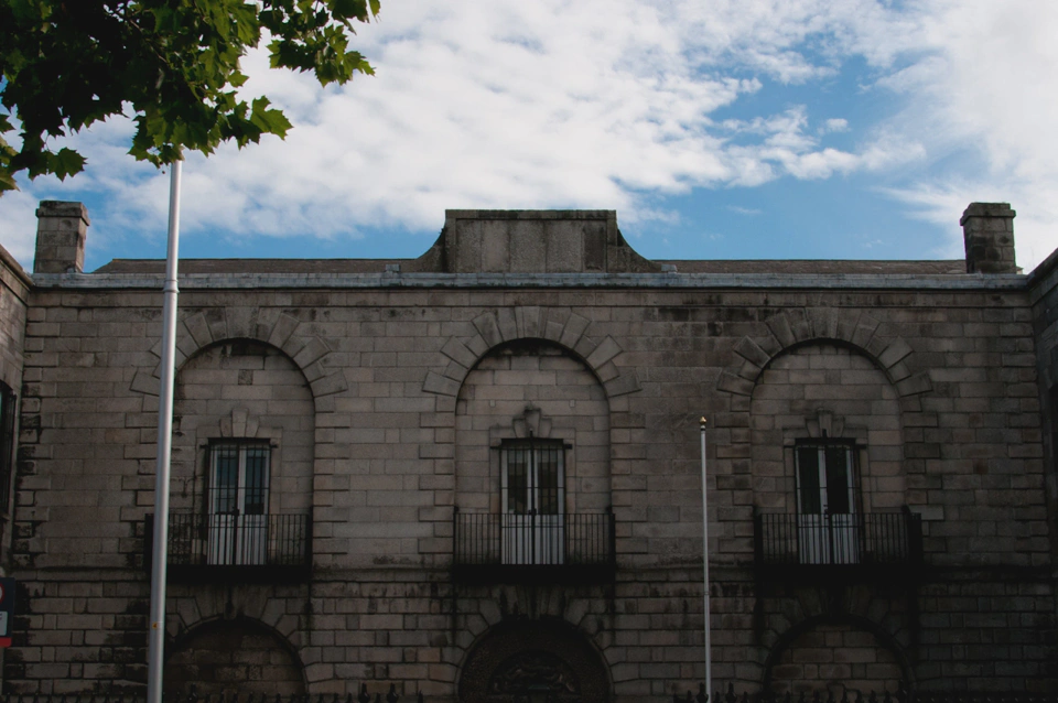
[[456,509],[454,522],[457,575],[475,581],[613,578],[613,512],[494,515]]

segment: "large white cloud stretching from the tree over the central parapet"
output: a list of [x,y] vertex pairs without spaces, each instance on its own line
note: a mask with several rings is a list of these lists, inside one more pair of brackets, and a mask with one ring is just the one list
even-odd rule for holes
[[[190,159],[184,227],[356,236],[363,227],[436,229],[445,207],[606,207],[631,221],[665,217],[644,193],[854,169],[856,156],[803,133],[803,115],[763,116],[765,141],[751,149],[728,143],[711,118],[760,90],[757,75],[803,83],[831,74],[832,62],[798,51],[845,21],[823,7],[387,6],[359,34],[375,78],[324,90],[269,71],[262,53],[247,61],[246,89],[269,95],[296,127],[285,142]],[[737,75],[738,66],[754,75]],[[116,120],[72,140],[93,164],[72,187],[107,194],[115,231],[158,228],[164,179],[123,155],[127,132]],[[42,186],[29,192],[72,192]]]

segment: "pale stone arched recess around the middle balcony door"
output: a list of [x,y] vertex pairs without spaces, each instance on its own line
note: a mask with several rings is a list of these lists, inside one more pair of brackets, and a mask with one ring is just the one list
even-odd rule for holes
[[456,505],[501,511],[501,448],[528,437],[563,453],[563,511],[612,505],[609,402],[593,369],[544,339],[490,349],[463,379],[456,400]]

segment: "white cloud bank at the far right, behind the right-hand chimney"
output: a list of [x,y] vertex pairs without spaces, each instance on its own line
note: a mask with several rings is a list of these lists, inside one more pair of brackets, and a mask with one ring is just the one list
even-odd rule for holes
[[932,0],[918,13],[928,55],[883,82],[910,98],[892,128],[916,134],[933,162],[964,158],[894,195],[941,224],[948,256],[962,255],[953,213],[972,201],[1012,203],[1028,270],[1058,245],[1058,6]]

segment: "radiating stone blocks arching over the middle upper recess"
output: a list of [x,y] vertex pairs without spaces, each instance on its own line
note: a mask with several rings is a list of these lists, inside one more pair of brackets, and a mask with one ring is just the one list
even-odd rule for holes
[[436,396],[455,398],[466,375],[488,352],[516,339],[547,339],[569,349],[592,369],[608,398],[640,390],[634,370],[624,372],[614,364],[623,349],[613,337],[590,337],[587,317],[568,309],[539,306],[501,307],[482,313],[473,320],[476,334],[471,337],[450,337],[441,353],[449,359],[443,371],[430,371],[422,390]]

